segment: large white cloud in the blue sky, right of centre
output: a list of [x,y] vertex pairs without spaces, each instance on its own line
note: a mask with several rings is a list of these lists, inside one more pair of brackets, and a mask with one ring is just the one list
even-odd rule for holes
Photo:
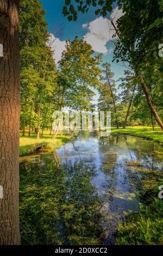
[[[116,25],[117,19],[122,16],[122,10],[118,10],[116,7],[111,15],[112,19]],[[86,23],[82,25],[85,27]],[[110,53],[110,50],[106,48],[108,41],[113,40],[112,36],[115,34],[114,27],[111,24],[111,21],[107,18],[99,17],[96,20],[93,20],[87,25],[89,31],[84,36],[84,40],[89,43],[95,52],[99,53]]]

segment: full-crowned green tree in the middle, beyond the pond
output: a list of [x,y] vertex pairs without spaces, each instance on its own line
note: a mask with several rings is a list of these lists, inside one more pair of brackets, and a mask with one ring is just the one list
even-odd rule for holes
[[[98,88],[101,77],[101,55],[93,56],[92,46],[78,37],[66,41],[66,51],[59,62],[58,110],[91,110],[93,88]],[[53,138],[56,137],[55,130]]]

